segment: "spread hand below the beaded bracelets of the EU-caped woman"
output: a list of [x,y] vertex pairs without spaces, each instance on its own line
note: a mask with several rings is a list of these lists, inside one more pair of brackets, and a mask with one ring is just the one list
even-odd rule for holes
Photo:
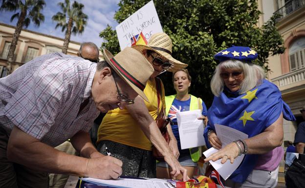
[[217,161],[218,159],[221,159],[221,164],[224,164],[228,159],[230,159],[231,163],[234,163],[234,159],[238,157],[239,155],[239,148],[238,146],[232,142],[228,144],[227,146],[224,146],[221,148],[218,152],[213,153],[206,159],[204,159],[205,162],[207,161]]

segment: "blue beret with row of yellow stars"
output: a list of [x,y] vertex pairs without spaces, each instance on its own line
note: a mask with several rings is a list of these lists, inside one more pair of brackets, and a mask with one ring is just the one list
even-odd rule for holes
[[255,60],[257,56],[258,53],[249,47],[232,46],[225,50],[221,50],[214,58],[219,62],[230,59],[239,60],[241,62],[251,62],[252,60]]

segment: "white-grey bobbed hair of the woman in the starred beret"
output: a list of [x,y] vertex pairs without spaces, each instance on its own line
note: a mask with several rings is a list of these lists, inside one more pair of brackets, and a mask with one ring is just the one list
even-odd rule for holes
[[259,65],[249,62],[240,62],[238,60],[223,61],[217,65],[211,80],[212,93],[217,97],[219,97],[224,87],[224,82],[220,77],[221,69],[227,68],[242,69],[244,73],[244,79],[240,84],[240,94],[246,93],[253,87],[260,85],[262,80],[266,77],[264,70]]

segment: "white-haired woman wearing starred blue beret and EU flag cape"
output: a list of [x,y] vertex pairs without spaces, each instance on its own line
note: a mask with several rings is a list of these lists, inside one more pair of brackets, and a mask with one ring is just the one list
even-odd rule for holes
[[[215,98],[208,110],[204,137],[208,147],[219,151],[205,161],[221,159],[221,163],[233,163],[245,154],[240,166],[224,182],[231,188],[276,187],[283,158],[283,118],[295,120],[278,87],[265,80],[261,66],[251,63],[257,56],[257,52],[243,46],[232,46],[215,55],[220,63],[211,81]],[[235,128],[247,134],[248,139],[221,146],[215,124]]]

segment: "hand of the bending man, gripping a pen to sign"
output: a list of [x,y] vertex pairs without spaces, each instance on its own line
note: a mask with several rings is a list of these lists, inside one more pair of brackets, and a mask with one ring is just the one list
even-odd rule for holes
[[122,161],[111,156],[87,159],[86,176],[99,179],[117,179],[122,174]]

